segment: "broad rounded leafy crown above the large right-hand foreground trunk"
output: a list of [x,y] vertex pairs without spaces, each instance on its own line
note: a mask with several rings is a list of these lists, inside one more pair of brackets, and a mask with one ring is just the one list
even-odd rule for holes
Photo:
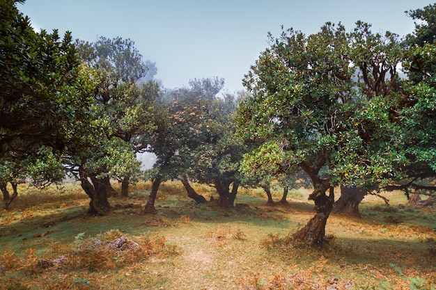
[[[304,166],[309,175],[327,166],[332,185],[383,186],[394,178],[405,156],[391,142],[398,127],[384,96],[394,94],[398,40],[370,27],[358,22],[346,33],[327,23],[314,35],[289,29],[270,36],[270,49],[244,80],[251,96],[238,111],[240,135],[256,144],[244,157],[246,172],[270,163]],[[381,72],[373,74],[374,67]]]

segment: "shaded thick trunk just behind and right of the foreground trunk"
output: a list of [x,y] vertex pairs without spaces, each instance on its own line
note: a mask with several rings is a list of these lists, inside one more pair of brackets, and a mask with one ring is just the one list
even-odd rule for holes
[[360,218],[359,204],[365,195],[366,191],[357,187],[341,186],[341,197],[334,203],[333,214]]

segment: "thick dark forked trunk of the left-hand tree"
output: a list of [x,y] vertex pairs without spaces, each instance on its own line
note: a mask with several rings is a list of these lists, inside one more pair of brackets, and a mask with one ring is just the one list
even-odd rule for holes
[[[109,177],[97,178],[79,169],[80,185],[85,193],[91,198],[89,202],[88,214],[102,216],[111,210],[108,198]],[[91,179],[89,181],[88,177]]]

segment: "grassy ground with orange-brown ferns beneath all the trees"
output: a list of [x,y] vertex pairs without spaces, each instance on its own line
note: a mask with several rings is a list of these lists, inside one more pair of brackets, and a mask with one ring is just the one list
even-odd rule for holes
[[314,215],[304,189],[284,205],[243,191],[224,211],[167,182],[149,215],[149,186],[94,217],[78,184],[20,186],[0,211],[0,289],[436,289],[436,208],[399,208],[402,193],[384,194],[390,207],[367,196],[362,218],[331,216],[334,239],[314,248],[290,239]]

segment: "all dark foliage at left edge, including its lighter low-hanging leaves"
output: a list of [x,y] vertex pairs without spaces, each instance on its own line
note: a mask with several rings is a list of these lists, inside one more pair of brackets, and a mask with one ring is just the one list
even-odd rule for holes
[[17,182],[43,186],[63,179],[61,155],[92,102],[70,33],[61,39],[56,30],[33,31],[17,3],[22,1],[0,2],[0,184],[6,207],[17,196]]

